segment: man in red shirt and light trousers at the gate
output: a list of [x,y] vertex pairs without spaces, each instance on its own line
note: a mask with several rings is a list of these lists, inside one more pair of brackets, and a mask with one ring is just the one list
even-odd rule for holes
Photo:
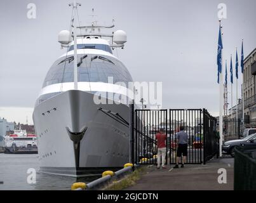
[[156,134],[156,140],[158,142],[158,169],[160,168],[161,157],[162,157],[162,168],[165,167],[165,156],[166,156],[166,134],[163,133],[163,128],[159,129],[159,133]]

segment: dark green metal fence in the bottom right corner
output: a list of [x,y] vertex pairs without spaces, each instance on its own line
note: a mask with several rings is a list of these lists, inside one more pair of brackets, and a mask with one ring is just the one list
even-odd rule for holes
[[256,148],[234,150],[234,190],[256,190]]

